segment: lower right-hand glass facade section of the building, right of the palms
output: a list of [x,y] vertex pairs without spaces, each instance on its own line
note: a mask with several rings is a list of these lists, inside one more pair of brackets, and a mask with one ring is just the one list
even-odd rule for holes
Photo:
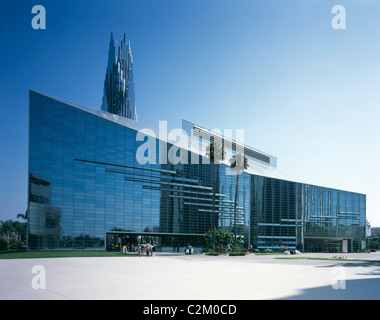
[[323,251],[322,239],[348,239],[350,251],[362,249],[365,195],[259,176],[252,176],[251,188],[256,247]]

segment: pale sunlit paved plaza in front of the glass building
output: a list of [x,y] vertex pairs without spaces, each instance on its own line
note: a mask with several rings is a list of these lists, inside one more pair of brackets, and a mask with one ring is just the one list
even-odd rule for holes
[[[380,253],[303,254],[380,261]],[[0,299],[380,299],[380,263],[156,253],[0,260]],[[43,277],[43,278],[42,278]]]

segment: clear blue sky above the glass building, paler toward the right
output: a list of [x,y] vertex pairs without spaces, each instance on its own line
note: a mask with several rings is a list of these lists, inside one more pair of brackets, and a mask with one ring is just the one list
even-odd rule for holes
[[[46,30],[31,27],[33,5]],[[334,5],[346,29],[334,30]],[[0,220],[27,206],[28,90],[100,107],[110,33],[126,33],[139,120],[244,129],[315,185],[367,194],[380,226],[376,0],[0,0]]]

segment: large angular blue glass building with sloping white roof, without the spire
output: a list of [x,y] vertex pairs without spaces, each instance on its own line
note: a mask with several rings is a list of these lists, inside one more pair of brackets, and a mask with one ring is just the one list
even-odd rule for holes
[[[158,128],[35,91],[29,107],[28,250],[202,247],[213,225],[209,130],[185,121],[188,139],[174,144]],[[224,142],[231,148],[217,165],[215,224],[233,232],[236,175],[228,160],[238,146]],[[246,246],[363,249],[364,194],[307,184],[280,172],[275,157],[243,147],[249,168],[239,176],[236,227]],[[182,161],[162,161],[170,156]]]

